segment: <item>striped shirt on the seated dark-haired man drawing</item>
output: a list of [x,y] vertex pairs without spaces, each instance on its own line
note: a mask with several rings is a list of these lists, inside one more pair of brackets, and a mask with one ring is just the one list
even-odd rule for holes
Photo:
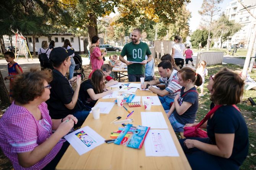
[[177,70],[173,70],[169,78],[168,77],[159,78],[160,83],[165,84],[165,90],[169,92],[167,96],[170,97],[171,99],[175,99],[176,95],[180,94],[181,86],[178,81],[177,73],[178,73]]

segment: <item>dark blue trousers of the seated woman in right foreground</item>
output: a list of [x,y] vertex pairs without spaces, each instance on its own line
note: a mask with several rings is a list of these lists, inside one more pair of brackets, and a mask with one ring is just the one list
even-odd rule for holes
[[[210,138],[186,138],[199,140],[203,143],[211,143]],[[190,163],[193,170],[238,170],[239,165],[237,165],[233,160],[226,159],[219,156],[214,156],[201,151],[197,148],[188,149],[184,145],[186,139],[180,139],[180,145]]]

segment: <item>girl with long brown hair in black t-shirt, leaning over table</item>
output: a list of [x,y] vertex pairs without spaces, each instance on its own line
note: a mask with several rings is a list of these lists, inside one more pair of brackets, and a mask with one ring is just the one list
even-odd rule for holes
[[102,70],[95,70],[92,78],[81,84],[79,97],[84,105],[92,108],[98,99],[105,95],[112,94],[112,90],[105,88],[105,75]]

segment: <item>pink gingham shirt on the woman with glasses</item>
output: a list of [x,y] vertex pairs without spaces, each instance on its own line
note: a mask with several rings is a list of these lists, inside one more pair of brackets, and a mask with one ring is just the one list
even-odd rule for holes
[[52,135],[52,120],[49,116],[47,104],[39,105],[41,120],[36,118],[22,106],[15,102],[8,108],[0,119],[0,147],[11,160],[15,170],[42,169],[57,155],[63,143],[59,142],[42,160],[29,168],[19,165],[18,154],[32,151]]

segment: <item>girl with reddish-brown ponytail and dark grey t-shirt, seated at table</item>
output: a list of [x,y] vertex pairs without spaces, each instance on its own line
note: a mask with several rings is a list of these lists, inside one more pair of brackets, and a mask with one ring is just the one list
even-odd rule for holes
[[187,123],[194,123],[196,111],[198,110],[198,92],[196,86],[202,84],[199,74],[189,67],[178,71],[178,78],[181,87],[180,94],[174,99],[167,116],[175,132],[183,132]]

